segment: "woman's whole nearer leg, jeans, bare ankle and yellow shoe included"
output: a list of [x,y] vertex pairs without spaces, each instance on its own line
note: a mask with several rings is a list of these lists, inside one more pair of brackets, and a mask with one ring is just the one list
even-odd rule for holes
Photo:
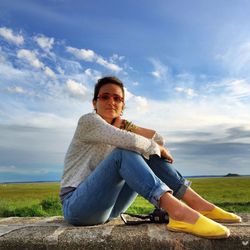
[[229,230],[177,200],[141,155],[115,149],[63,202],[65,219],[74,225],[104,223],[126,183],[169,213],[169,230],[202,237],[225,238]]

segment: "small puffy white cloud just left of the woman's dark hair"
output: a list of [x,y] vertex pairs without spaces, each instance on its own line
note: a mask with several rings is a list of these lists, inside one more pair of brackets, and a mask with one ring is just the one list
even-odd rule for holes
[[87,87],[71,79],[66,82],[65,90],[69,96],[80,100],[86,99],[88,95]]

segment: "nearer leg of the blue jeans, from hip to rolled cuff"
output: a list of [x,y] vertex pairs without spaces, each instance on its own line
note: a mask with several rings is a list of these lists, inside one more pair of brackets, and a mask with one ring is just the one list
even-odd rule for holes
[[171,192],[141,155],[115,149],[65,198],[65,219],[75,225],[106,222],[114,211],[119,195],[123,195],[125,183],[156,206],[163,193]]

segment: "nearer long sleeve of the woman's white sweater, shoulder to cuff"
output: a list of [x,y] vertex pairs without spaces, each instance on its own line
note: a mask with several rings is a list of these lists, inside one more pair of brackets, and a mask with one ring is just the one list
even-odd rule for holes
[[[90,113],[80,118],[76,129],[78,138],[85,143],[103,143],[135,151],[149,158],[160,156],[160,148],[153,139],[121,130],[107,123],[98,114]],[[80,142],[79,142],[80,143]]]

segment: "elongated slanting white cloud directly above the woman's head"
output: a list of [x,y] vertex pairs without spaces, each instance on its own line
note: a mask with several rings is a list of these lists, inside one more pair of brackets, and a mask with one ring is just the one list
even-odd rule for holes
[[76,49],[73,47],[67,47],[66,50],[73,54],[76,58],[88,62],[96,62],[99,65],[102,65],[103,67],[114,71],[114,72],[120,72],[122,70],[121,67],[118,65],[108,62],[107,60],[103,59],[102,56],[96,54],[93,50],[90,49]]

